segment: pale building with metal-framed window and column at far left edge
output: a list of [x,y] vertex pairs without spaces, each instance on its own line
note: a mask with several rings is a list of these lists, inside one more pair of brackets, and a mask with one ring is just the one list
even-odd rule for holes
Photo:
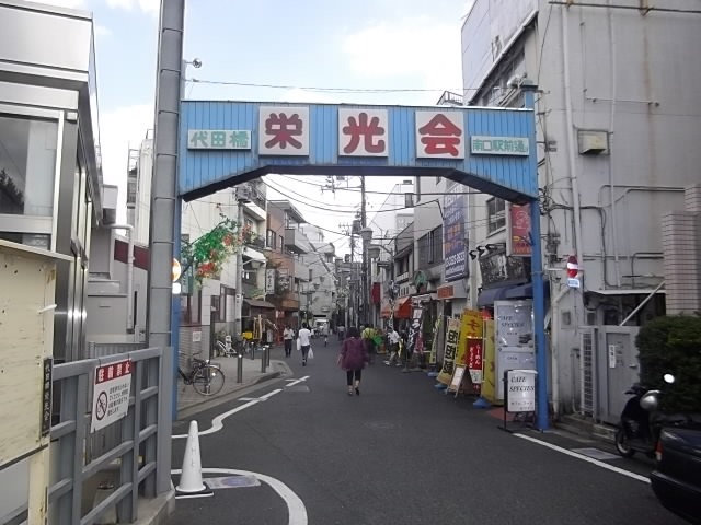
[[54,355],[72,360],[104,211],[92,18],[0,2],[0,237],[71,258],[56,266]]

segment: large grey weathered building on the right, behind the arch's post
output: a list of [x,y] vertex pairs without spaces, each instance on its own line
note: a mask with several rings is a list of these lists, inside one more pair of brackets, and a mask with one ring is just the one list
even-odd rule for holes
[[[466,18],[464,100],[520,107],[519,82],[539,85],[551,398],[555,412],[576,411],[584,328],[640,326],[665,313],[662,215],[683,209],[701,161],[690,89],[701,71],[689,67],[701,33],[693,16],[633,1],[502,4],[478,0]],[[528,299],[528,214],[486,195],[470,196],[468,207],[471,303]],[[570,257],[582,269],[578,287],[566,279]]]

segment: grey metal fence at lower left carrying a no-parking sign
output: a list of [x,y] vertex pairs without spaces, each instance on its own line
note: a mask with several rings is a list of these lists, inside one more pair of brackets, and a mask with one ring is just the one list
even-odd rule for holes
[[[95,368],[125,359],[131,360],[133,373],[119,443],[89,457]],[[59,457],[48,489],[49,523],[91,525],[111,509],[116,509],[116,523],[133,523],[140,495],[153,498],[171,489],[172,352],[149,348],[62,363],[54,368],[53,381],[54,392],[60,394],[54,399],[57,415],[50,438]],[[115,465],[118,476],[112,493],[83,515],[85,481]]]

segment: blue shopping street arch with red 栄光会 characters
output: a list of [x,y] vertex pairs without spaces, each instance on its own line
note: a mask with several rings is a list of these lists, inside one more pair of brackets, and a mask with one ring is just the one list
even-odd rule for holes
[[[430,175],[513,202],[537,201],[533,93],[525,89],[526,107],[517,109],[183,101],[179,195],[192,200],[268,173]],[[540,207],[530,209],[532,238],[539,240]],[[545,429],[540,243],[532,268],[538,424]]]

